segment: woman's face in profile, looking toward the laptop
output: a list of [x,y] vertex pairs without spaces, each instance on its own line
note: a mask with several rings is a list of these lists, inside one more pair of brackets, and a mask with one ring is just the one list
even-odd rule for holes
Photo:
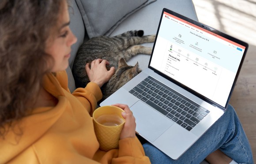
[[68,4],[64,0],[64,9],[59,16],[58,31],[55,36],[50,36],[46,43],[46,52],[54,59],[52,72],[63,71],[68,67],[71,46],[77,41],[77,38],[69,28]]

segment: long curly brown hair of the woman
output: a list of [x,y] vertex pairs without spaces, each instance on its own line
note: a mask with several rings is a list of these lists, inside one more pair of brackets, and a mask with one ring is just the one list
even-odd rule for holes
[[0,136],[28,114],[51,56],[45,45],[64,0],[0,0]]

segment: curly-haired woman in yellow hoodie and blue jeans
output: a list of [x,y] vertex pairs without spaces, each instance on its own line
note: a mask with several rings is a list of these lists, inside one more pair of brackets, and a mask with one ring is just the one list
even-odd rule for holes
[[151,144],[142,146],[132,112],[115,104],[126,119],[119,149],[101,151],[90,115],[114,68],[107,71],[106,60],[94,60],[85,68],[90,83],[70,93],[65,69],[76,37],[69,23],[66,0],[0,1],[0,163],[200,163],[206,157],[213,163],[253,162],[231,106],[172,160]]

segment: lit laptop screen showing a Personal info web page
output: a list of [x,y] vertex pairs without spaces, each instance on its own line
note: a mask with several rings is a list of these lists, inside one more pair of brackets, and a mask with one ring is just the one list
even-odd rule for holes
[[149,66],[226,108],[246,45],[195,22],[163,11]]

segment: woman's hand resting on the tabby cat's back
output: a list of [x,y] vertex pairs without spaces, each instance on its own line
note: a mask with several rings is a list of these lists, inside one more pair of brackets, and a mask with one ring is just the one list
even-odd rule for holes
[[107,60],[97,59],[86,64],[85,70],[90,82],[95,82],[99,87],[102,87],[105,82],[108,82],[111,76],[115,73],[115,68],[111,67],[108,71],[106,65],[109,64]]

